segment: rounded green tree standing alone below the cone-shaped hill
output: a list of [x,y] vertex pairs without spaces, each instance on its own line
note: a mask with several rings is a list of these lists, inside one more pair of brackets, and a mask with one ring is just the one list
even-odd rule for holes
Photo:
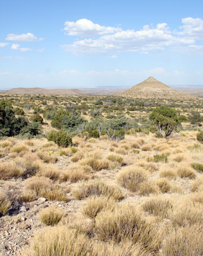
[[155,132],[161,133],[165,138],[171,136],[180,124],[176,110],[167,106],[156,107],[149,115],[149,119]]

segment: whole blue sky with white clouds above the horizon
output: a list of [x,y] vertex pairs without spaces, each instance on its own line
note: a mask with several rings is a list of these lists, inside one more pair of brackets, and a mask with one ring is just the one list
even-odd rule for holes
[[203,85],[203,1],[0,1],[0,89]]

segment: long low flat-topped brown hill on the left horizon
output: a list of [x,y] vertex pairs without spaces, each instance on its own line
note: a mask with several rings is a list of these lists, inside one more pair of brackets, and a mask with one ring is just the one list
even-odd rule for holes
[[43,94],[43,95],[83,95],[78,89],[43,89],[43,88],[14,88],[5,90],[5,94]]

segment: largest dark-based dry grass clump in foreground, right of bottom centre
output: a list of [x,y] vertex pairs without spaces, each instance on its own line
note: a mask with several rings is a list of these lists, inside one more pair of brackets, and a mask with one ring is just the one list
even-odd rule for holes
[[95,218],[95,231],[100,240],[121,242],[129,239],[151,252],[158,251],[160,244],[157,227],[145,222],[142,214],[131,205],[100,212]]

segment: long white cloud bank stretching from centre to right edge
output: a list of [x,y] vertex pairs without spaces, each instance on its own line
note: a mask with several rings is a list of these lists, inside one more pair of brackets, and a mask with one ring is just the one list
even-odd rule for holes
[[108,51],[138,51],[147,54],[152,50],[164,50],[166,47],[196,45],[196,40],[203,37],[203,20],[185,18],[182,23],[182,31],[177,32],[170,31],[167,23],[158,23],[156,27],[144,25],[138,31],[123,31],[121,28],[94,24],[87,19],[67,21],[64,30],[69,36],[86,38],[60,47],[73,54],[98,54]]

